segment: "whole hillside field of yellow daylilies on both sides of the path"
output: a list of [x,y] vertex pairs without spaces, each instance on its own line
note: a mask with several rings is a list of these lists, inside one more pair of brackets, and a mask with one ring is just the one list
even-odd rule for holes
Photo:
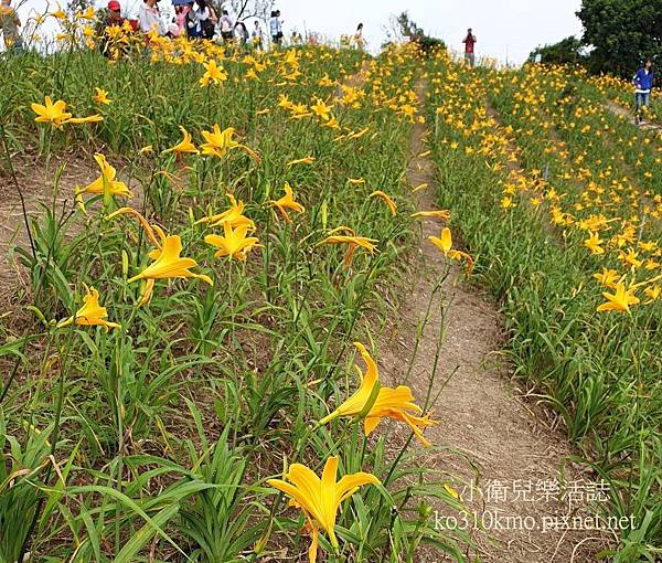
[[[0,563],[476,560],[433,516],[468,511],[437,361],[427,395],[417,346],[383,373],[420,244],[428,314],[450,268],[493,294],[515,375],[636,517],[608,555],[653,561],[662,137],[616,82],[120,28],[106,57],[49,17],[62,49],[0,61],[2,194],[50,202],[6,265]],[[415,127],[437,185],[408,182]]]

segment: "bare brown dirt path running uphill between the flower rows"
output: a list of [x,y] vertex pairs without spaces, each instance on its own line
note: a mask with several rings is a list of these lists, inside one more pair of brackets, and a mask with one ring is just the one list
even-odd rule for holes
[[[435,210],[438,209],[434,196],[437,187],[433,163],[425,156],[425,126],[417,124],[412,139],[408,181],[413,188],[428,184],[417,192],[418,208]],[[449,266],[428,241],[430,235],[439,236],[442,226],[438,219],[424,221],[420,265],[402,308],[398,330],[387,350],[381,350],[384,371],[397,374],[391,384],[404,383],[402,374],[406,361],[403,359],[410,357],[417,326],[426,316],[433,288]],[[434,397],[441,391],[435,405],[435,417],[441,424],[428,428],[426,437],[444,448],[431,450],[434,466],[448,474],[449,482],[466,506],[477,513],[476,518],[469,514],[466,519],[456,514],[458,527],[474,538],[480,561],[592,561],[590,554],[604,548],[605,537],[595,531],[567,530],[567,520],[563,518],[583,508],[584,502],[575,502],[578,506],[569,508],[567,496],[557,500],[557,488],[564,478],[572,489],[590,481],[590,476],[566,464],[572,452],[565,436],[549,429],[542,410],[530,406],[522,392],[509,381],[508,365],[500,353],[503,331],[496,307],[465,279],[463,268],[457,263],[450,264],[440,299],[444,307],[430,309],[406,384],[421,402],[435,364],[439,331],[444,330],[431,393]],[[452,450],[465,454],[470,463]],[[472,464],[478,468],[478,476]],[[439,507],[436,522],[440,527],[452,523],[452,519],[446,519],[448,514],[448,510]],[[487,534],[479,530],[481,522]],[[418,561],[451,561],[444,557],[437,550],[425,548]]]

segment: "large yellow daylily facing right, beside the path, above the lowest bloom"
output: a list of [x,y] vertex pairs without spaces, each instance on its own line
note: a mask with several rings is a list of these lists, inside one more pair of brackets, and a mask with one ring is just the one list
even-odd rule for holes
[[[363,429],[365,435],[370,436],[382,418],[393,418],[407,424],[420,443],[429,446],[430,443],[425,439],[423,429],[439,424],[439,422],[433,421],[427,415],[419,416],[423,414],[423,410],[414,403],[409,387],[405,385],[398,385],[396,389],[381,386],[376,362],[361,342],[354,342],[354,346],[366,365],[365,374],[357,365],[355,367],[362,378],[361,385],[351,397],[331,414],[324,416],[319,424],[327,424],[339,416],[363,415]],[[372,405],[371,401],[373,401]]]

